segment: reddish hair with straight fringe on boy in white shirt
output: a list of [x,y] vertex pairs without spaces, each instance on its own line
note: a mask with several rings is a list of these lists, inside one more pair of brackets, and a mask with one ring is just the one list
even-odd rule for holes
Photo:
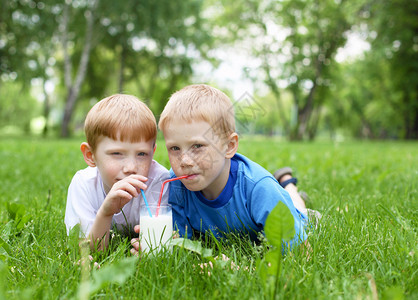
[[157,123],[152,111],[138,98],[116,94],[96,103],[84,122],[87,143],[95,151],[101,137],[140,142],[156,140]]

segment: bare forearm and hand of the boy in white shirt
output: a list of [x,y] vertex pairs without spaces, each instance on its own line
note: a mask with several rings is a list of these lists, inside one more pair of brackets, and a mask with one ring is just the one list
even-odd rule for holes
[[126,203],[138,196],[141,189],[147,188],[143,182],[146,180],[144,176],[131,175],[113,185],[98,210],[90,230],[89,242],[92,250],[103,250],[108,246],[113,215],[119,213]]

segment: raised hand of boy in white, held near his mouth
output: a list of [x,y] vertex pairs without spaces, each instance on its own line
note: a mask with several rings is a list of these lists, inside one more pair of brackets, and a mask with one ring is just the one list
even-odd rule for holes
[[126,203],[139,195],[141,189],[147,188],[144,181],[148,179],[142,175],[130,175],[116,182],[107,194],[98,213],[113,216],[120,212]]

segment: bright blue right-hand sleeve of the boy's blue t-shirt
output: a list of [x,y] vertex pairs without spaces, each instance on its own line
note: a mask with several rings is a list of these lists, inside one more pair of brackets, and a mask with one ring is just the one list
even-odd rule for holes
[[299,212],[293,205],[289,193],[278,185],[272,178],[266,177],[260,180],[253,188],[250,195],[250,211],[251,216],[257,226],[264,229],[267,216],[277,205],[278,202],[283,202],[290,210],[295,227],[295,236],[289,242],[283,241],[283,246],[293,248],[306,240],[307,235],[304,230],[304,223]]

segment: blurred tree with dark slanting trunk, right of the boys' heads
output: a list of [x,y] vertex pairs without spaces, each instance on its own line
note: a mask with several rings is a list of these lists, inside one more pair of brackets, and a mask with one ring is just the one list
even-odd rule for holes
[[292,0],[268,3],[258,12],[256,24],[270,37],[254,47],[264,82],[281,108],[280,85],[293,96],[295,121],[280,116],[290,139],[314,138],[332,81],[330,68],[346,42],[350,16],[360,7],[344,0]]

